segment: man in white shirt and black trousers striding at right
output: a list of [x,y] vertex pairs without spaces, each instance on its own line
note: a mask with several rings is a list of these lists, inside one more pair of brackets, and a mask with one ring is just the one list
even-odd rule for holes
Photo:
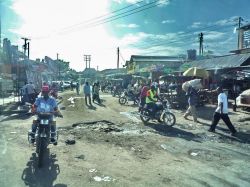
[[228,101],[227,101],[227,95],[223,92],[222,87],[217,88],[218,95],[218,107],[215,110],[212,125],[210,126],[210,129],[208,131],[215,132],[216,125],[222,118],[222,120],[225,122],[229,130],[231,131],[231,135],[236,135],[236,130],[234,126],[232,125],[229,117],[228,117]]

